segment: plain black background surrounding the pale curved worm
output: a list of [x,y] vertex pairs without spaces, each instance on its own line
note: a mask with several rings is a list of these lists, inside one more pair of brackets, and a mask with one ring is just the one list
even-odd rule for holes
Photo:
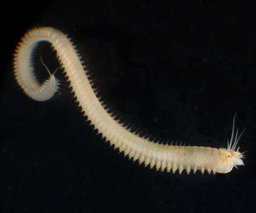
[[[255,210],[256,3],[8,3],[1,19],[2,212],[252,212]],[[85,122],[64,75],[51,100],[26,97],[12,54],[27,29],[74,38],[100,95],[162,140],[225,147],[233,115],[247,127],[245,166],[215,176],[150,170],[124,158]],[[58,63],[35,53],[39,80]],[[153,137],[152,136],[152,137]]]

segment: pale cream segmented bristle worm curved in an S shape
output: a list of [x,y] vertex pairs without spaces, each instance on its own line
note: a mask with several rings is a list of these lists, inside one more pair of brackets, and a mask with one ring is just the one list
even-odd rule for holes
[[194,173],[197,170],[201,170],[202,173],[205,170],[209,173],[212,171],[214,174],[227,173],[232,170],[233,166],[243,165],[241,160],[243,153],[239,153],[239,150],[235,151],[241,137],[241,135],[237,137],[238,132],[236,132],[236,138],[233,137],[235,117],[227,149],[163,145],[131,133],[102,107],[103,103],[96,97],[75,47],[66,35],[51,27],[29,30],[18,43],[15,51],[16,80],[30,98],[45,101],[51,98],[58,89],[58,81],[54,75],[51,75],[49,80],[42,85],[39,85],[35,79],[29,60],[32,49],[40,41],[48,41],[56,50],[58,60],[68,76],[70,86],[73,88],[84,115],[87,115],[91,124],[98,129],[99,133],[102,133],[106,141],[110,141],[115,148],[119,148],[120,152],[124,151],[129,158],[133,158],[134,161],[138,160],[140,164],[144,162],[145,166],[149,164],[151,168],[155,166],[157,170],[166,169],[168,172],[172,170],[173,173],[178,170],[180,174],[183,170],[187,173],[191,170]]

